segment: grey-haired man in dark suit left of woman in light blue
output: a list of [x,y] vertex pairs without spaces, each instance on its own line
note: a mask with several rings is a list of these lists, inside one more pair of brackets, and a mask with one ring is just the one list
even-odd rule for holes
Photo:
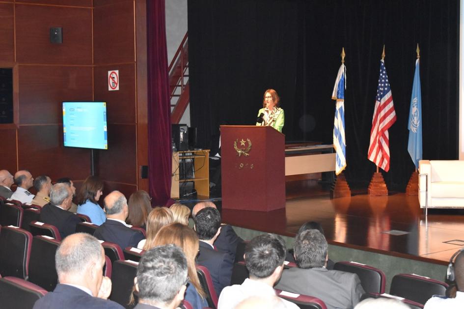
[[73,234],[76,225],[81,222],[78,216],[67,211],[73,202],[73,193],[68,186],[62,183],[53,185],[50,191],[50,203],[40,212],[40,221],[55,225],[61,238]]

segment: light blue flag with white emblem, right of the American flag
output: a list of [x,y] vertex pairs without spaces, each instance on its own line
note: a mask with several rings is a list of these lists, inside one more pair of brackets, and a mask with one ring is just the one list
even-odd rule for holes
[[422,160],[422,99],[420,95],[419,59],[416,60],[416,71],[412,83],[411,106],[409,108],[409,141],[408,152],[412,162],[419,168]]

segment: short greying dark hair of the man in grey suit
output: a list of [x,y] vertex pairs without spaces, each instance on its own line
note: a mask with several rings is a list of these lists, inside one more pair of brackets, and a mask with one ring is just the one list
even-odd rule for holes
[[295,262],[300,268],[323,267],[326,264],[327,250],[324,235],[316,229],[308,229],[295,239]]

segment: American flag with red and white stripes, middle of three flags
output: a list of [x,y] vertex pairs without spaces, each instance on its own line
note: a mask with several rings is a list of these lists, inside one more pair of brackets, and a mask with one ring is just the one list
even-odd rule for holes
[[395,121],[396,113],[393,107],[393,97],[382,59],[380,61],[379,85],[377,86],[376,107],[372,117],[371,140],[367,158],[384,171],[390,169],[388,129]]

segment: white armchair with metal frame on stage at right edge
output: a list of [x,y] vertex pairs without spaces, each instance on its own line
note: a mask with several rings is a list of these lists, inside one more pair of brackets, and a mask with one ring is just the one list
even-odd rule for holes
[[464,161],[419,161],[421,208],[464,208]]

